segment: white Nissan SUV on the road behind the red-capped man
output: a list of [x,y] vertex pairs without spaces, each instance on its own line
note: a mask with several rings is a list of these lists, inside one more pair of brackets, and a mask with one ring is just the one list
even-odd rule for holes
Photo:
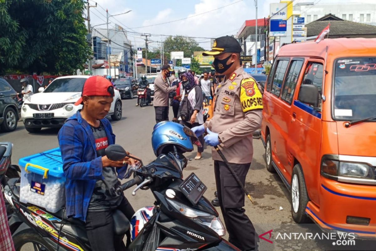
[[[44,127],[61,127],[65,120],[82,108],[74,105],[81,97],[83,84],[91,76],[64,76],[56,78],[42,92],[33,94],[22,105],[21,118],[28,132],[38,132]],[[39,88],[42,90],[43,88]],[[118,90],[108,116],[120,120],[122,103]]]

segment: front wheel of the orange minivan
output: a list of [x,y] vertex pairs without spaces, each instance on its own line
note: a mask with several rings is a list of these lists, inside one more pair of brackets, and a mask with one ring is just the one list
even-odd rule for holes
[[309,218],[305,213],[308,201],[302,166],[296,164],[291,178],[291,215],[296,223],[309,222]]

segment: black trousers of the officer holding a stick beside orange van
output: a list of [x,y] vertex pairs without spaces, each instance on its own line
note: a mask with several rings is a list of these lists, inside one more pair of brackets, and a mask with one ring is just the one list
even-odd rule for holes
[[[251,163],[230,163],[230,167],[237,173],[243,185],[250,165]],[[257,250],[255,245],[258,242],[258,235],[252,222],[245,214],[243,190],[223,161],[214,161],[214,173],[218,200],[221,205],[224,224],[227,233],[229,233],[229,242],[241,250]]]

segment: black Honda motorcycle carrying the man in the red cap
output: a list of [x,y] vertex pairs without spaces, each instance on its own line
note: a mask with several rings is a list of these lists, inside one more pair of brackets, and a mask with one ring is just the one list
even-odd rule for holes
[[[127,156],[119,145],[109,146],[106,155],[111,160]],[[206,186],[194,173],[183,180],[182,171],[187,165],[183,152],[173,147],[168,154],[159,155],[146,166],[141,160],[139,162],[138,167],[128,169],[133,179],[118,187],[118,192],[138,185],[133,195],[138,189],[150,189],[156,201],[151,218],[142,229],[138,229],[133,241],[127,237],[127,250],[239,250],[222,239],[225,230],[218,212],[203,197]],[[91,249],[82,221],[67,218],[64,208],[50,213],[36,205],[20,202],[19,185],[19,178],[12,178],[4,189],[5,198],[13,209],[9,226],[17,251],[26,243],[32,243],[35,250]],[[115,234],[128,236],[131,224],[124,214],[115,211],[113,217]]]

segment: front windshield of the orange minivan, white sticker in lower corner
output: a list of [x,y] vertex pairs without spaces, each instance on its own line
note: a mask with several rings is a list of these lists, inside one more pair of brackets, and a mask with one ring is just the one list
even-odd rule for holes
[[334,118],[376,116],[376,57],[338,59],[334,76]]

